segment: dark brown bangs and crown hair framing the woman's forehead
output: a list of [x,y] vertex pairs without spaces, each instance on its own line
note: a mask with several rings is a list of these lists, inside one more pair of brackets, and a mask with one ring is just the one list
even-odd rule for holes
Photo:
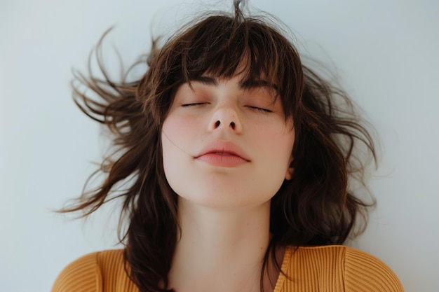
[[244,18],[240,11],[235,16],[208,16],[189,23],[162,49],[153,46],[144,82],[149,88],[145,106],[158,111],[158,123],[163,123],[178,86],[207,74],[218,79],[240,75],[244,87],[273,88],[285,120],[292,118],[297,125],[304,91],[302,63],[292,43],[268,23]]

